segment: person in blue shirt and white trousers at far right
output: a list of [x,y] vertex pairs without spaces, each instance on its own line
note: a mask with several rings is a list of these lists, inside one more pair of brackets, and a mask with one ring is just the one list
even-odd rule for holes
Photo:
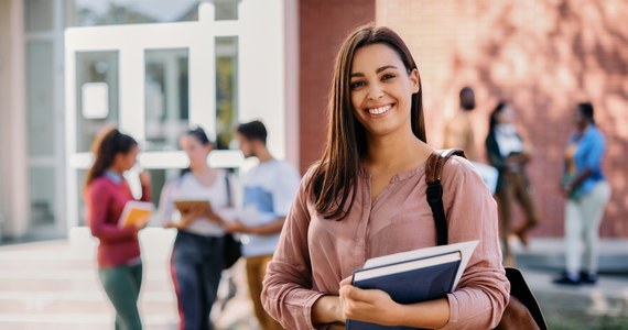
[[[599,223],[610,199],[610,185],[602,173],[606,151],[604,135],[595,124],[593,105],[580,103],[574,110],[575,132],[565,150],[562,193],[565,204],[566,270],[557,284],[597,282]],[[584,267],[581,244],[584,240]]]

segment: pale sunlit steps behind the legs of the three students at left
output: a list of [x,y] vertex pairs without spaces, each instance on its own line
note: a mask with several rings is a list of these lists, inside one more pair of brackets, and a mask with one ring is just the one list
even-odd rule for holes
[[[174,330],[176,298],[167,268],[172,231],[144,230],[140,237],[144,279],[140,312],[145,329]],[[96,242],[85,229],[69,240],[0,246],[0,329],[113,329],[113,310],[95,268]],[[236,264],[236,297],[212,318],[218,329],[258,329],[246,290],[243,265]],[[226,296],[221,285],[219,296]]]

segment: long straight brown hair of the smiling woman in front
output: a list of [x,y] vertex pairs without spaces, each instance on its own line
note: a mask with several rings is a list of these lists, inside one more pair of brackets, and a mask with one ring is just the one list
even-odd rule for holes
[[[397,52],[408,74],[418,69],[405,43],[388,28],[362,25],[343,42],[329,91],[327,143],[323,157],[307,183],[307,191],[313,191],[315,196],[316,211],[326,219],[344,219],[347,216],[347,200],[350,198],[349,208],[355,200],[354,184],[360,158],[367,152],[367,140],[365,128],[354,116],[349,78],[356,51],[372,44],[385,44]],[[419,140],[426,142],[422,90],[419,76],[419,92],[412,95],[412,132]]]

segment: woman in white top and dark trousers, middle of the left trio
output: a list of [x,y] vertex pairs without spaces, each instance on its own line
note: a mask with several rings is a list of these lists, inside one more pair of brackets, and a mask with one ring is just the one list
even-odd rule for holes
[[[232,190],[227,172],[207,164],[212,147],[213,143],[201,128],[181,138],[190,169],[164,186],[160,200],[159,219],[164,227],[177,230],[171,275],[182,330],[214,329],[209,315],[224,268],[225,220],[219,215],[230,209]],[[207,200],[212,210],[175,212],[177,200]]]

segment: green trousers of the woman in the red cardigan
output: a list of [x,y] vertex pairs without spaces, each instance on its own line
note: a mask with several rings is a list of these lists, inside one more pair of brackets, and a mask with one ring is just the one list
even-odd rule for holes
[[142,264],[104,267],[98,275],[107,297],[116,309],[116,330],[140,330],[138,297],[142,284]]

